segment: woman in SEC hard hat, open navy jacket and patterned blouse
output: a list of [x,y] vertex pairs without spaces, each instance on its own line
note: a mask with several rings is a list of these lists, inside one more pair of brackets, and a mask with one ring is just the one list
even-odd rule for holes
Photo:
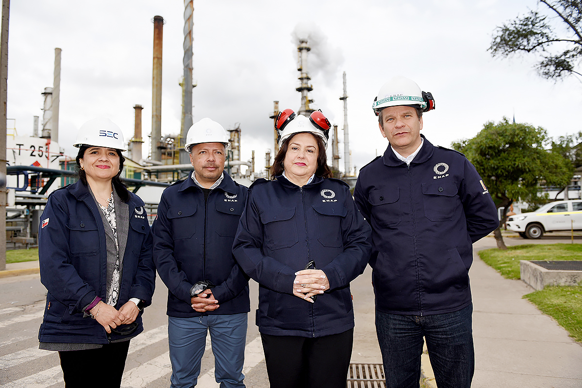
[[143,201],[119,178],[120,128],[90,120],[74,146],[79,181],[54,191],[41,216],[48,293],[39,347],[59,352],[67,388],[119,387],[129,340],[143,331],[141,310],[154,293],[150,225]]

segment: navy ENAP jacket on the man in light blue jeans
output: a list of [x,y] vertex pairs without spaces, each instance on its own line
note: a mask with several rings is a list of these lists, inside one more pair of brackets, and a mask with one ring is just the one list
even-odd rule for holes
[[[249,278],[232,256],[248,189],[224,173],[204,203],[193,173],[164,190],[152,224],[155,266],[168,287],[167,314],[188,318],[249,312]],[[201,313],[191,306],[190,288],[204,280],[216,286],[212,294],[220,307]]]

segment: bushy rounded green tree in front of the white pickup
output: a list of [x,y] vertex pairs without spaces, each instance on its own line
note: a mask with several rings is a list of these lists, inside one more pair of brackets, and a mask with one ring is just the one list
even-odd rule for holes
[[548,150],[550,142],[544,128],[512,124],[503,117],[498,124],[485,123],[474,138],[453,143],[477,168],[497,208],[504,208],[494,232],[501,249],[506,249],[500,228],[509,206],[537,197],[538,182],[562,186],[572,178],[569,161]]

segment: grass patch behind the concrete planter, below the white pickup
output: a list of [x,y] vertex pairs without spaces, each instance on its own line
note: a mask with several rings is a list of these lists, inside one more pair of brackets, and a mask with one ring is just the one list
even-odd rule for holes
[[507,250],[492,248],[480,250],[479,257],[504,278],[519,279],[520,260],[582,260],[582,244],[526,244],[510,246]]

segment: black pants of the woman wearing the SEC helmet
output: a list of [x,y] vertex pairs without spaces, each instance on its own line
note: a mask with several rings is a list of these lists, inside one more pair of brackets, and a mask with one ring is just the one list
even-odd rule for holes
[[65,388],[119,387],[129,340],[97,349],[59,351]]

